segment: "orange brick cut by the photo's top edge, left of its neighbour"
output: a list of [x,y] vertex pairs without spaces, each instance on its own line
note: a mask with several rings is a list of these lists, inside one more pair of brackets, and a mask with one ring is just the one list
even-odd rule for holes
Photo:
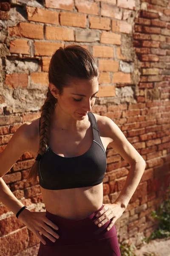
[[72,11],[74,7],[74,0],[69,0],[64,3],[63,0],[45,0],[45,7]]

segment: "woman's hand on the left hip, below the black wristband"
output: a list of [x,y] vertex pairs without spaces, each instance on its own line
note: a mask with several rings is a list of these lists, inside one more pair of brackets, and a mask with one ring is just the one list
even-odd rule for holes
[[58,230],[59,228],[45,216],[45,213],[46,212],[31,212],[25,208],[18,216],[18,219],[20,219],[20,221],[22,221],[29,230],[37,235],[38,239],[40,239],[43,244],[46,244],[46,242],[40,233],[48,237],[48,239],[50,239],[52,242],[55,242],[56,239],[59,238],[59,235],[55,233],[54,230],[52,230],[50,227],[48,227],[48,225],[55,230]]

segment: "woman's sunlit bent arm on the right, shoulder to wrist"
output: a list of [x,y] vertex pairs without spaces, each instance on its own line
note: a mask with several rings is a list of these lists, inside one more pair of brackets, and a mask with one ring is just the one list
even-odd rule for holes
[[130,198],[133,196],[141,177],[144,173],[146,163],[143,157],[136,151],[126,139],[120,128],[107,116],[103,116],[105,137],[111,139],[111,147],[118,152],[123,159],[130,164],[125,185],[114,203],[120,204],[122,208],[127,207]]

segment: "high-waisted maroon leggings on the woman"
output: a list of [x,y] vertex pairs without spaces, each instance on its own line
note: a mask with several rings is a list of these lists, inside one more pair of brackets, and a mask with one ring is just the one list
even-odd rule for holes
[[103,204],[96,212],[80,220],[62,218],[46,211],[46,217],[54,222],[59,230],[53,230],[59,239],[52,242],[42,234],[46,244],[40,242],[37,256],[121,256],[116,227],[108,231],[111,220],[102,227],[94,224],[96,213],[103,208]]

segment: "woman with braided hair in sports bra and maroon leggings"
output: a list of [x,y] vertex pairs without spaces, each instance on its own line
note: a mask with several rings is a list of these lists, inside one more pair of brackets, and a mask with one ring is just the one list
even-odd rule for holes
[[[114,223],[135,192],[145,161],[110,118],[91,113],[99,70],[88,50],[57,49],[48,79],[40,119],[21,125],[0,154],[1,177],[25,151],[37,156],[28,181],[36,183],[39,176],[46,212],[29,211],[0,178],[2,202],[40,239],[38,256],[120,256]],[[130,171],[116,201],[102,204],[108,144]]]

